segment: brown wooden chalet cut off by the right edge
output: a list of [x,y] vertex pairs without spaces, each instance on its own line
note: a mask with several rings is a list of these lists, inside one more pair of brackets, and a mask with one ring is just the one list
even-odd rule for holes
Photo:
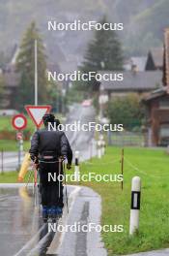
[[163,85],[144,100],[147,106],[147,145],[169,144],[169,28],[164,32]]

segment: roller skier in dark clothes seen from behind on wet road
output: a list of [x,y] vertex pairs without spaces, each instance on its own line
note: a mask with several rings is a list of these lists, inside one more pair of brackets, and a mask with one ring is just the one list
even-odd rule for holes
[[46,221],[48,217],[55,219],[62,214],[63,184],[58,176],[63,175],[63,159],[68,159],[67,168],[70,169],[72,151],[64,132],[47,129],[49,122],[54,123],[55,116],[47,113],[42,120],[44,128],[33,135],[29,152],[31,159],[39,165],[42,217]]

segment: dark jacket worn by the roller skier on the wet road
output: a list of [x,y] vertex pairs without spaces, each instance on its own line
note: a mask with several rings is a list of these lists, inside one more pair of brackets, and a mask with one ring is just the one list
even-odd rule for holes
[[69,141],[64,132],[38,130],[34,133],[29,150],[32,156],[40,156],[46,151],[55,152],[57,157],[66,156],[69,164],[72,160],[72,151]]

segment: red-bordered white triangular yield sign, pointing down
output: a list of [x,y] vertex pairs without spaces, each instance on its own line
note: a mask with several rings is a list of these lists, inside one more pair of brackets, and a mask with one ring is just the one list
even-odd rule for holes
[[39,106],[34,106],[34,105],[27,105],[25,106],[25,110],[29,114],[29,116],[32,118],[34,121],[35,125],[37,128],[40,128],[42,125],[42,116],[51,111],[51,106],[50,105],[39,105]]

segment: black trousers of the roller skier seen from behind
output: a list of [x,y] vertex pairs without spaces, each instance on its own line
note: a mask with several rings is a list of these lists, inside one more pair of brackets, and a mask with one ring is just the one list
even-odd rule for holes
[[63,183],[58,180],[59,174],[63,175],[62,164],[59,173],[58,162],[40,162],[39,173],[42,206],[63,208]]

